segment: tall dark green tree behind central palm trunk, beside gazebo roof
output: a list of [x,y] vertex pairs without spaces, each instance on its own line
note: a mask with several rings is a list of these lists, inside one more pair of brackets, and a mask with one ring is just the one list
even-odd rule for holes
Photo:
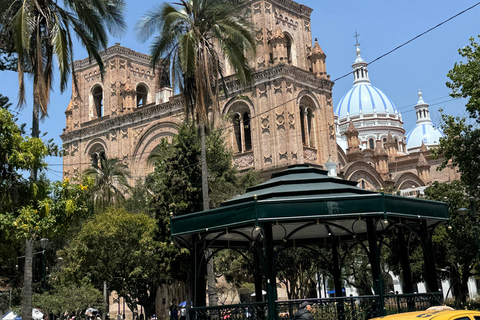
[[[209,198],[213,207],[256,184],[256,173],[239,174],[232,166],[233,154],[226,149],[219,130],[213,130],[207,136],[206,146]],[[183,215],[202,210],[201,149],[197,130],[184,124],[171,143],[163,140],[149,157],[149,161],[155,164],[154,172],[147,179],[147,188],[154,194],[151,216],[158,221],[158,237],[162,241],[170,241],[170,214]],[[186,279],[188,263],[172,269],[177,270],[172,274],[173,278]],[[210,276],[213,275],[210,272]],[[214,283],[213,279],[210,288],[214,288]]]

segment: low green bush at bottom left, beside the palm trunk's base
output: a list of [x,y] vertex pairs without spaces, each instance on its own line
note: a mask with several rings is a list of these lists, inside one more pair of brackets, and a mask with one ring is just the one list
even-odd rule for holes
[[87,308],[104,308],[102,292],[89,283],[56,285],[48,293],[34,294],[33,304],[43,313],[59,318],[83,315]]

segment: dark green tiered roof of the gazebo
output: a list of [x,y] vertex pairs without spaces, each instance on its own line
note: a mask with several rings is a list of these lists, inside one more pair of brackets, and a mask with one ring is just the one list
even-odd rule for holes
[[[448,220],[447,205],[443,202],[393,196],[356,185],[354,181],[329,177],[325,170],[291,166],[222,203],[220,208],[173,217],[172,238],[190,242],[194,234],[218,238],[223,233],[223,240],[242,241],[256,225],[271,223],[281,226],[274,228],[274,240],[282,240],[312,221],[315,223],[295,232],[290,239],[346,236],[364,233],[365,225],[356,221],[372,215],[387,221],[403,219],[406,223],[425,220],[427,226]],[[381,230],[383,226],[377,228]]]

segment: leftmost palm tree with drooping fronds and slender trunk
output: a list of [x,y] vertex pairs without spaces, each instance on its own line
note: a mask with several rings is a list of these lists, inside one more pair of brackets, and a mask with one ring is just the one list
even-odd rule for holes
[[[8,3],[8,5],[7,5]],[[47,116],[52,90],[54,57],[60,71],[60,90],[67,87],[73,68],[73,34],[94,58],[103,72],[99,55],[108,44],[110,32],[125,29],[123,0],[64,0],[63,7],[55,0],[6,0],[0,5],[0,42],[7,53],[18,57],[19,101],[25,105],[24,72],[33,75],[32,137],[40,136],[39,120]],[[3,40],[2,40],[3,39]],[[74,84],[76,87],[75,77]],[[37,180],[37,168],[32,170],[33,182]],[[31,319],[32,309],[32,257],[34,239],[26,239],[25,274],[22,317]]]

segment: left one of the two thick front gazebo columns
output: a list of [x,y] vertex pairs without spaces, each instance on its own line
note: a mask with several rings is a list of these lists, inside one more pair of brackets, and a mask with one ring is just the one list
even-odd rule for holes
[[277,319],[277,308],[275,306],[275,301],[277,300],[277,281],[275,277],[276,265],[274,261],[272,225],[263,225],[263,231],[265,232],[265,281],[267,282],[268,319],[274,320]]

